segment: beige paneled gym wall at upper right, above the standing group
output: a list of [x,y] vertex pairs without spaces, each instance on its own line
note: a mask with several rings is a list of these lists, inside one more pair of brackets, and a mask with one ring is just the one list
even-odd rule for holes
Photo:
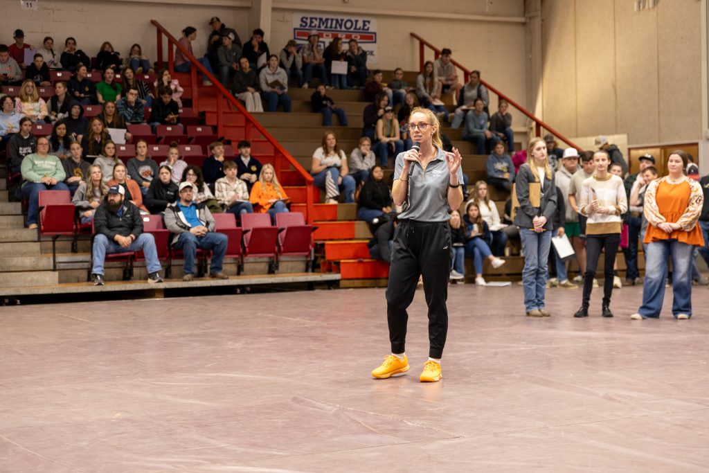
[[542,1],[542,113],[568,136],[702,138],[700,1]]

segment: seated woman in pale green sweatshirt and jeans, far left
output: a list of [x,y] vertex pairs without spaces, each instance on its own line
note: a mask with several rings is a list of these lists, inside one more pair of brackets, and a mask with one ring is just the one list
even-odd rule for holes
[[22,197],[28,199],[27,226],[37,228],[38,199],[40,191],[68,191],[64,184],[66,175],[58,157],[49,154],[49,140],[46,136],[37,138],[37,152],[28,154],[22,160]]

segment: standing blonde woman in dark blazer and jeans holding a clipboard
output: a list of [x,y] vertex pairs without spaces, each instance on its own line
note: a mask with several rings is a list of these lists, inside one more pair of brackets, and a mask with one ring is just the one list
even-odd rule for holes
[[520,207],[515,225],[520,228],[525,267],[522,282],[525,311],[530,317],[548,317],[545,309],[545,287],[549,275],[549,247],[552,245],[552,217],[557,211],[554,173],[547,158],[547,145],[542,138],[532,138],[527,162],[520,166],[516,178]]

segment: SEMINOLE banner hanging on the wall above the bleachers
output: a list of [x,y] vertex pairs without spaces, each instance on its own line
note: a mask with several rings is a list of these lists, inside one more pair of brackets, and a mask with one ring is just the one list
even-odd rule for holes
[[367,51],[367,65],[376,64],[376,18],[345,16],[335,13],[293,13],[293,39],[299,44],[308,42],[311,30],[318,30],[325,48],[339,36],[347,48],[347,41],[354,38]]

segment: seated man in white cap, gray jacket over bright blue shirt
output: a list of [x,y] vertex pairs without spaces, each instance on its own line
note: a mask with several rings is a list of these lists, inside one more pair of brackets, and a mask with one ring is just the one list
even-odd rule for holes
[[216,233],[214,218],[206,205],[194,202],[194,184],[179,184],[179,198],[165,208],[165,227],[174,233],[172,247],[184,253],[183,281],[194,279],[194,257],[197,248],[211,250],[212,258],[209,277],[229,279],[222,272],[222,262],[226,253],[228,238],[223,233]]

